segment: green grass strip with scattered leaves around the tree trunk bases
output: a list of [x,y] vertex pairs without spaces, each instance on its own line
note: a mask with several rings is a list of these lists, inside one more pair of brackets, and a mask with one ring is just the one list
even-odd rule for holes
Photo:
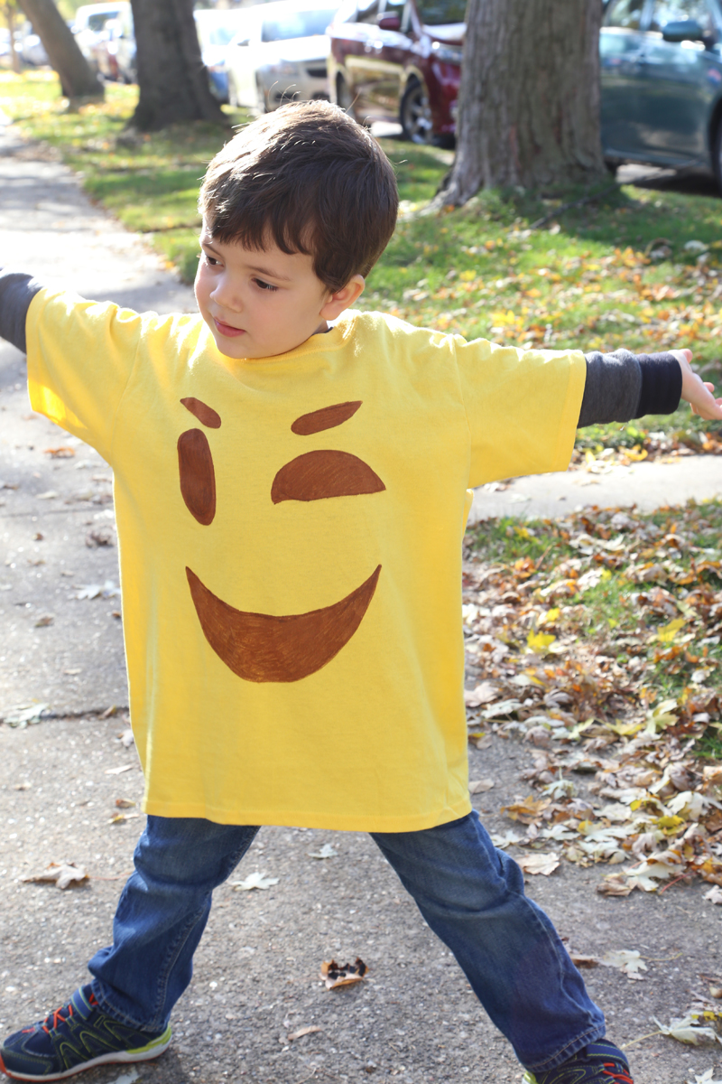
[[[226,107],[227,128],[184,125],[128,141],[123,127],[136,93],[109,85],[104,103],[69,114],[52,73],[0,75],[0,109],[28,139],[56,147],[88,193],[146,233],[191,282],[206,163],[232,126],[251,117]],[[402,217],[362,308],[516,346],[648,352],[688,346],[709,378],[722,383],[722,201],[711,189],[699,195],[622,186],[568,210],[560,207],[582,191],[564,199],[493,191],[463,208],[424,214],[452,154],[394,140],[382,146],[396,169]],[[705,250],[686,248],[688,242]],[[722,427],[692,420],[683,408],[643,426],[586,430],[579,444],[644,451],[653,448],[649,431],[658,430],[694,443],[704,441],[700,434],[719,437]]]

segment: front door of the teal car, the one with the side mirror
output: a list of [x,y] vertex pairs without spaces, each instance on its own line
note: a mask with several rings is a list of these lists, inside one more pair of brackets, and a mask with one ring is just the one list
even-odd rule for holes
[[[704,41],[665,41],[665,27],[683,22],[697,23]],[[644,39],[639,112],[645,157],[670,166],[707,164],[708,121],[720,75],[708,0],[654,0]]]

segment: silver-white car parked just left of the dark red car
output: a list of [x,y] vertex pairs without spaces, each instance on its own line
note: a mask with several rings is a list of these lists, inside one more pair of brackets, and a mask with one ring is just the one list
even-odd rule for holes
[[284,102],[329,98],[327,26],[339,4],[276,0],[246,9],[253,18],[226,53],[228,101],[262,113]]

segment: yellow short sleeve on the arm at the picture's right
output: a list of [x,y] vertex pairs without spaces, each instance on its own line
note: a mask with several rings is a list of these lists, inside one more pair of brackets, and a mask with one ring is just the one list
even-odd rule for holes
[[454,343],[471,434],[469,485],[566,470],[585,391],[581,351]]

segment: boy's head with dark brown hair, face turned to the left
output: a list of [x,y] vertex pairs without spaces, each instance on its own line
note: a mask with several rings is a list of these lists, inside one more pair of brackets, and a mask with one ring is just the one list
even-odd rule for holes
[[199,197],[196,298],[219,349],[268,357],[325,331],[364,288],[397,207],[389,159],[337,106],[285,105],[244,128]]

